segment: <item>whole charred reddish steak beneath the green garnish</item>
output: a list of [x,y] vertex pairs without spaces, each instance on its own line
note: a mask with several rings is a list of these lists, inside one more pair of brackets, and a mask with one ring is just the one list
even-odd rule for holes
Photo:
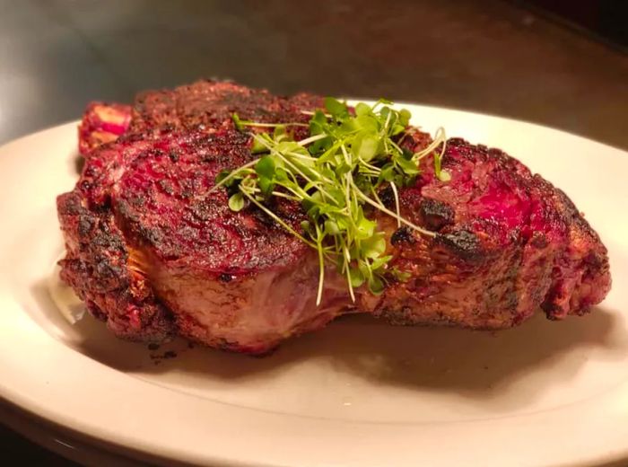
[[[316,251],[253,205],[232,211],[226,190],[211,189],[219,172],[257,157],[251,133],[234,127],[234,112],[307,123],[321,98],[201,81],[143,93],[132,109],[98,106],[107,107],[92,104],[83,119],[81,178],[57,198],[67,251],[60,264],[88,310],[120,337],[180,335],[262,354],[342,313],[496,330],[539,306],[551,319],[586,313],[610,288],[606,248],[560,189],[498,149],[453,138],[442,159],[450,181],[435,177],[428,156],[416,183],[399,190],[401,215],[435,236],[369,214],[386,233],[389,266],[409,278],[389,281],[381,295],[361,287],[352,302],[345,278],[329,266],[317,305]],[[121,136],[99,144],[90,128],[111,129],[103,125],[111,115],[122,122],[111,133]],[[407,134],[410,151],[431,142],[418,129]],[[387,189],[380,197],[394,206]],[[271,204],[301,229],[299,205]]]

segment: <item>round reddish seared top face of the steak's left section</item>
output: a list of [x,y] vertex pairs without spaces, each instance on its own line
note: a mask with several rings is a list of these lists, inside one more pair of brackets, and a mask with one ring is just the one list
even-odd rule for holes
[[[250,143],[249,135],[231,129],[173,134],[158,140],[158,148],[136,154],[112,197],[127,242],[156,260],[185,262],[215,275],[297,261],[308,247],[283,227],[258,209],[232,212],[224,189],[208,195],[219,172],[253,159]],[[175,161],[171,154],[178,154]],[[295,229],[304,219],[301,209],[288,203],[274,210]]]

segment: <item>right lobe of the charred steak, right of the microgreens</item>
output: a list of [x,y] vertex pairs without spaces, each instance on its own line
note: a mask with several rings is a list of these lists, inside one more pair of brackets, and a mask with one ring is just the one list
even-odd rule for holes
[[[606,248],[561,190],[502,151],[458,138],[447,142],[443,166],[449,183],[437,181],[426,163],[416,187],[400,194],[402,215],[432,223],[438,234],[392,235],[392,264],[412,277],[387,288],[376,315],[500,329],[523,322],[538,305],[560,319],[606,296]],[[447,222],[434,225],[435,212]]]

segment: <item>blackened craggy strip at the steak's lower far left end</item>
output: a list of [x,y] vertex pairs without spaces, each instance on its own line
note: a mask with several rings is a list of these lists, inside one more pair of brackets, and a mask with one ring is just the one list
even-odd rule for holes
[[175,334],[172,314],[153,294],[143,271],[129,262],[123,234],[103,209],[94,212],[72,191],[57,198],[66,239],[61,278],[96,318],[126,339],[161,342]]

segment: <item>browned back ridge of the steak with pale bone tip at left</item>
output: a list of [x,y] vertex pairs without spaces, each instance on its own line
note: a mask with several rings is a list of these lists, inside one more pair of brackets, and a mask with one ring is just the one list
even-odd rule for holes
[[[212,133],[235,128],[232,116],[262,123],[308,123],[304,110],[322,107],[320,96],[299,93],[289,98],[241,84],[200,80],[173,90],[140,93],[133,106],[92,102],[79,126],[79,153],[115,141],[124,133],[144,139],[171,131]],[[257,131],[257,128],[249,128]],[[307,128],[292,128],[294,137],[307,137]]]

